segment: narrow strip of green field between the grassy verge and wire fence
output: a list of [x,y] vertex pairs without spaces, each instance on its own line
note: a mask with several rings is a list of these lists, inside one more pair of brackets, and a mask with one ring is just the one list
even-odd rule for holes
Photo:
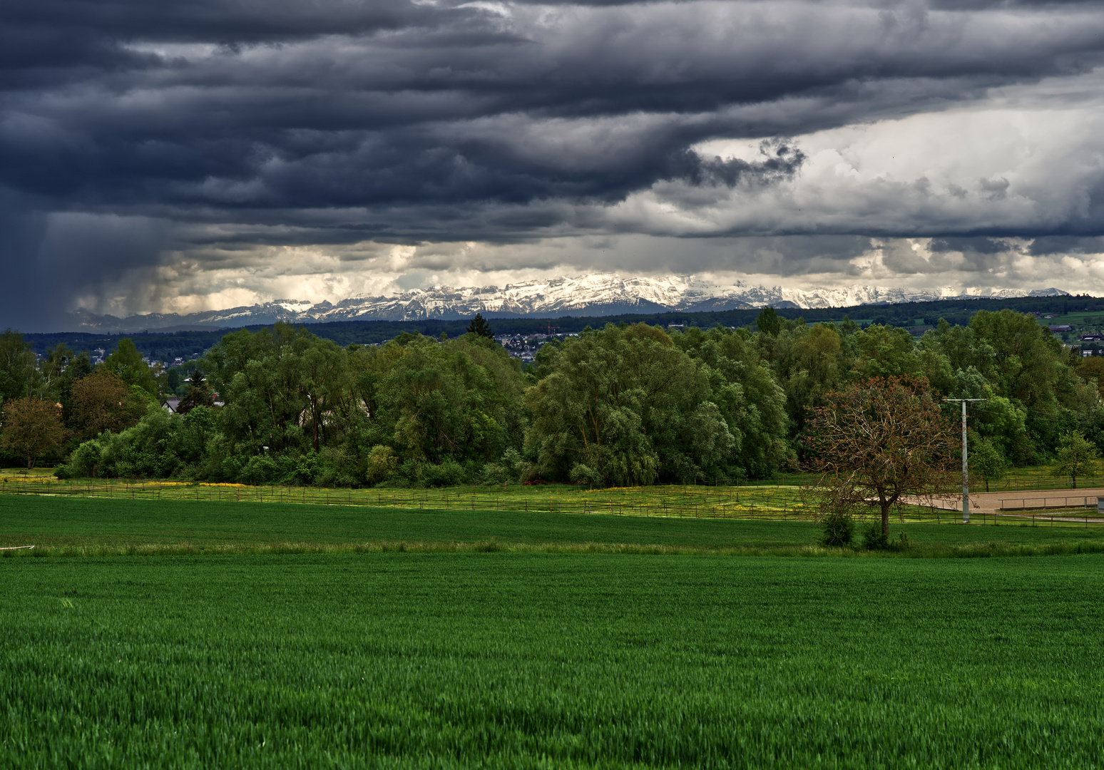
[[[944,515],[943,521],[957,520]],[[1104,527],[1076,522],[1030,526],[1027,520],[1015,525],[964,526],[894,521],[891,533],[893,537],[905,533],[913,545],[901,556],[1104,550]],[[840,553],[819,548],[818,535],[814,522],[781,517],[660,518],[167,500],[151,504],[141,500],[0,495],[0,546],[35,546],[33,552],[0,552],[8,557],[400,547],[470,550],[492,546],[524,550]]]

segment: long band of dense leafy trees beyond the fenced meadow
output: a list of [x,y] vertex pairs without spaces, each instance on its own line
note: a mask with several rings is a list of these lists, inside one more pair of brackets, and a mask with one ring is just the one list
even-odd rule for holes
[[[481,319],[480,319],[481,320]],[[806,323],[771,309],[740,329],[609,323],[545,344],[533,366],[486,323],[340,345],[276,324],[222,336],[162,408],[166,373],[129,340],[103,364],[64,344],[35,360],[0,336],[0,438],[59,475],[244,483],[649,484],[764,478],[809,460],[816,410],[872,378],[923,381],[972,407],[976,472],[1104,448],[1104,360],[1062,347],[1030,314],[980,311],[919,340]],[[946,408],[946,407],[941,407]]]

